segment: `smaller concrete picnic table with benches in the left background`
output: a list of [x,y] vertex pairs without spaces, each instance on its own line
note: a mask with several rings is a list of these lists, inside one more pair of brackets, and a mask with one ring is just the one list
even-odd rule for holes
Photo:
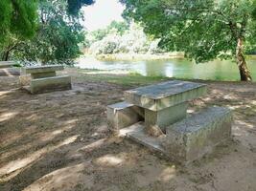
[[64,70],[61,65],[25,67],[21,69],[19,82],[31,94],[70,90],[71,77],[56,75],[56,72],[61,70]]

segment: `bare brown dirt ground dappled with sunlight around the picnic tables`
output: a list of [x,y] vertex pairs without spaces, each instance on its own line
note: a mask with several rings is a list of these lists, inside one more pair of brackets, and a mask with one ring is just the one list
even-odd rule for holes
[[233,140],[188,166],[158,159],[107,130],[105,107],[136,87],[90,80],[75,69],[73,90],[29,95],[0,77],[1,191],[255,191],[256,83],[210,82],[190,110],[234,111]]

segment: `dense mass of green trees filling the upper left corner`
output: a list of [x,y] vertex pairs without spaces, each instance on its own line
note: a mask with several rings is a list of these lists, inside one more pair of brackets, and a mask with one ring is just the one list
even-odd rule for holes
[[84,33],[82,5],[92,0],[1,0],[0,59],[71,63]]

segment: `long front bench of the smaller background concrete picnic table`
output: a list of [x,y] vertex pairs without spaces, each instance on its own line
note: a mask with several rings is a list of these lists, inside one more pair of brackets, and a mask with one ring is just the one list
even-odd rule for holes
[[71,88],[71,77],[68,75],[32,79],[30,83],[30,90],[32,94],[58,90],[70,90]]

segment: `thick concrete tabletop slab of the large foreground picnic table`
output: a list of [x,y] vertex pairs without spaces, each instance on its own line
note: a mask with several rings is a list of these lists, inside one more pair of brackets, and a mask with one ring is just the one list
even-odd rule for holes
[[206,94],[206,84],[172,80],[125,92],[125,100],[134,105],[159,111]]

